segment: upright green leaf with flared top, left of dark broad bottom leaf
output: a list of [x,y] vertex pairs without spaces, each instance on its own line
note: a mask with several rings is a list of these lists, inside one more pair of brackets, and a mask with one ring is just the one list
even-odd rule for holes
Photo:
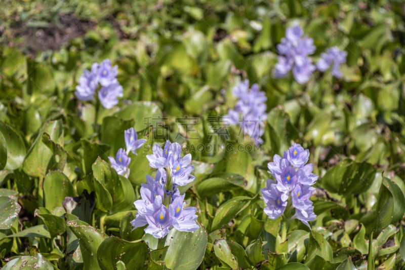
[[66,225],[79,240],[80,251],[83,255],[84,268],[100,269],[96,254],[100,244],[107,239],[107,235],[100,229],[96,229],[80,220],[68,221]]

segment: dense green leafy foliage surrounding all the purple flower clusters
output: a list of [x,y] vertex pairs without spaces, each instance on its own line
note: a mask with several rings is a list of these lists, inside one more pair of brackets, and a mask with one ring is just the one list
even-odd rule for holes
[[[399,0],[3,1],[1,266],[405,267],[403,14]],[[276,45],[294,22],[314,39],[314,59],[331,46],[347,52],[341,80],[329,71],[305,85],[273,78]],[[110,110],[74,96],[83,69],[106,58],[124,87]],[[268,98],[264,144],[230,152],[219,146],[253,142],[231,128],[226,140],[208,119],[233,107],[232,88],[244,79]],[[192,130],[177,121],[185,115]],[[129,127],[148,141],[131,154],[127,179],[106,161]],[[192,154],[196,179],[182,191],[200,224],[161,241],[129,223],[153,174],[145,156],[164,142],[158,132]],[[317,218],[312,230],[293,221],[283,242],[259,190],[271,157],[293,141],[310,149],[320,176]]]

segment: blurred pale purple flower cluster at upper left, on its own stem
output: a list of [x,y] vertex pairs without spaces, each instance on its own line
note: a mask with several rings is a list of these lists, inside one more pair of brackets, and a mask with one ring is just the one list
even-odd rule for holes
[[112,108],[118,104],[117,98],[123,97],[124,91],[116,79],[117,69],[117,66],[111,66],[108,59],[102,61],[101,64],[93,63],[90,71],[87,69],[83,71],[74,94],[80,100],[91,100],[100,84],[101,89],[98,92],[100,103],[107,109]]

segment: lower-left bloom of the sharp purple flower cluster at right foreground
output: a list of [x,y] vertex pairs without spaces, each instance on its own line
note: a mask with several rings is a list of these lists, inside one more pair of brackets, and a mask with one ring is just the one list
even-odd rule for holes
[[[267,180],[267,187],[262,190],[262,199],[266,203],[264,213],[270,219],[277,219],[287,207],[287,200],[282,200],[281,197],[285,197],[285,194],[276,188],[276,184],[270,179]],[[288,196],[287,196],[288,198]]]

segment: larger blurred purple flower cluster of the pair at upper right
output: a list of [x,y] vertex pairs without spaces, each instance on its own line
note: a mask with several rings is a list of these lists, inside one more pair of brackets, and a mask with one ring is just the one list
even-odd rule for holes
[[286,37],[281,38],[281,43],[277,45],[280,56],[274,67],[274,76],[282,78],[292,70],[294,79],[299,84],[306,83],[316,69],[312,59],[308,57],[315,49],[312,38],[303,36],[301,26],[287,28]]

